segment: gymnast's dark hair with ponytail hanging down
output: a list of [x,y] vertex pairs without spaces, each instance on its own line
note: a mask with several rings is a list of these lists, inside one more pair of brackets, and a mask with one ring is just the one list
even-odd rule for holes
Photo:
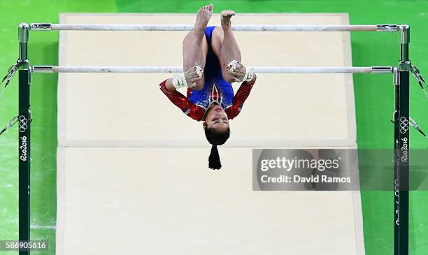
[[211,154],[208,157],[208,167],[211,169],[220,169],[222,168],[222,163],[220,162],[217,145],[226,143],[230,136],[230,129],[227,128],[227,130],[223,132],[215,131],[211,128],[208,129],[206,126],[204,126],[204,129],[206,140],[213,145],[211,146]]

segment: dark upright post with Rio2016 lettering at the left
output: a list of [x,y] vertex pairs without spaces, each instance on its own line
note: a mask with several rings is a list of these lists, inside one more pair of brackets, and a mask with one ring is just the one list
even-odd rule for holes
[[[19,165],[19,239],[30,240],[30,83],[28,60],[29,24],[18,27],[20,42],[19,71],[19,126],[18,126],[18,165]],[[20,251],[27,255],[29,251]]]

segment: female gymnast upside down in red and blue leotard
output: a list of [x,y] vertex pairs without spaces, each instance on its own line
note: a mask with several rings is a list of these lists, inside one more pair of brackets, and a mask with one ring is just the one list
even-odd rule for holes
[[[241,111],[256,75],[241,64],[241,51],[231,29],[234,11],[222,11],[221,28],[206,27],[211,15],[212,4],[199,9],[194,29],[183,40],[183,70],[187,71],[164,80],[160,89],[185,115],[202,121],[206,140],[212,145],[208,167],[220,169],[217,145],[229,138],[229,120]],[[243,82],[235,95],[231,82]],[[187,97],[176,91],[180,87],[187,87]]]

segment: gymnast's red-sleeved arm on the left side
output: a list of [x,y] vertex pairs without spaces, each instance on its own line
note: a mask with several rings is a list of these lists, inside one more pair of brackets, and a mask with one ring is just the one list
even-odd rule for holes
[[164,95],[176,105],[185,115],[200,121],[204,116],[204,109],[190,102],[183,94],[176,91],[176,88],[172,85],[172,79],[164,80],[159,85],[159,89]]

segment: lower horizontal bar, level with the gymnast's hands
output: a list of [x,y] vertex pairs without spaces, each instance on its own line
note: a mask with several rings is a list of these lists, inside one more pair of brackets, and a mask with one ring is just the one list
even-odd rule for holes
[[[251,67],[249,67],[251,68]],[[392,73],[391,66],[252,67],[255,73]],[[33,66],[32,73],[183,73],[178,66]]]

